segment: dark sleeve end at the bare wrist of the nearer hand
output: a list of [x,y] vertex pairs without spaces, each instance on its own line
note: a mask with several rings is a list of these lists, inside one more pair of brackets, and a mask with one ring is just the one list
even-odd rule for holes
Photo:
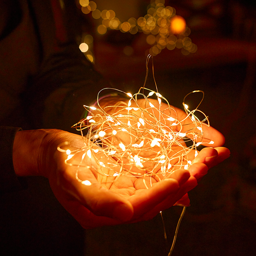
[[16,132],[21,128],[0,126],[0,193],[24,188],[24,180],[18,178],[13,169],[12,148]]

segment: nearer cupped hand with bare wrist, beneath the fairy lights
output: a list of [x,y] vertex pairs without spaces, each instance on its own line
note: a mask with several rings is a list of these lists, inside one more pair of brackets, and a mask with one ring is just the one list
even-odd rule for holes
[[[112,176],[108,180],[109,176],[95,172],[102,170],[101,167],[98,168],[93,159],[87,159],[87,164],[94,167],[79,167],[78,172],[80,179],[90,180],[92,185],[86,186],[76,179],[77,166],[66,165],[67,155],[56,150],[65,141],[73,148],[84,146],[81,136],[60,130],[18,132],[13,148],[14,169],[20,176],[47,177],[57,199],[84,228],[148,220],[171,207],[196,186],[196,175],[201,177],[207,170],[202,159],[215,152],[205,152],[202,159],[198,157],[197,166],[190,166],[194,176],[188,170],[177,170],[168,179],[153,182],[152,187],[146,179],[149,189],[145,189],[143,179],[137,177],[120,176],[113,183]],[[102,161],[107,165],[109,159]],[[108,172],[108,168],[103,171]]]

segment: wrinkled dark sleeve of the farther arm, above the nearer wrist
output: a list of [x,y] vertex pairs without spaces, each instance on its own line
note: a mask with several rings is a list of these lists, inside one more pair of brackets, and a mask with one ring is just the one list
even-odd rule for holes
[[109,87],[76,44],[63,46],[42,66],[25,94],[28,122],[33,129],[57,128],[76,132],[77,123],[98,92]]

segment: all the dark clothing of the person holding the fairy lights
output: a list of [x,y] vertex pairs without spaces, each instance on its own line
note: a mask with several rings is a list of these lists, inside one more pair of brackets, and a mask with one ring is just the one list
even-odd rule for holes
[[[0,125],[76,132],[70,127],[104,84],[74,40],[73,7],[72,0],[0,0],[7,13],[0,19]],[[48,180],[28,177],[22,190],[12,164],[19,129],[0,128],[0,255],[83,255],[84,231]]]

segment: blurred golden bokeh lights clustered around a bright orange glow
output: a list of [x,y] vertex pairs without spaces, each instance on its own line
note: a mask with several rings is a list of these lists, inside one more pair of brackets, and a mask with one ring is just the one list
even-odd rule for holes
[[[108,29],[131,34],[143,32],[148,34],[146,41],[151,46],[149,53],[153,56],[159,54],[164,48],[168,50],[179,48],[184,55],[197,50],[196,44],[193,44],[188,37],[190,29],[187,27],[186,21],[176,15],[176,10],[173,7],[165,7],[164,0],[151,1],[144,17],[138,19],[132,17],[127,21],[119,20],[113,10],[98,10],[97,4],[93,1],[80,0],[79,3],[83,13],[91,12],[94,19],[102,20],[102,24],[97,28],[100,35],[104,35]],[[127,55],[130,53],[131,51]]]

